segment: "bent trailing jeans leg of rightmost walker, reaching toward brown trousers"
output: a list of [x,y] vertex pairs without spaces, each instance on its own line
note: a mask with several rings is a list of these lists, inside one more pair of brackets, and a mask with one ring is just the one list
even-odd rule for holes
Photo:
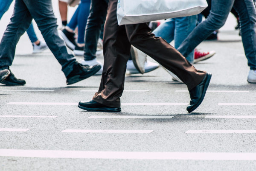
[[233,7],[234,0],[212,0],[212,9],[206,20],[201,22],[177,49],[187,57],[213,31],[221,28]]

